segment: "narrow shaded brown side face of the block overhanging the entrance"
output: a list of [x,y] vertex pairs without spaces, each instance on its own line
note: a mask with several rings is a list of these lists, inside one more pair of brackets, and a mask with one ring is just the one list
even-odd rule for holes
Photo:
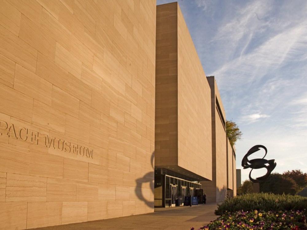
[[178,164],[177,2],[157,6],[155,166]]

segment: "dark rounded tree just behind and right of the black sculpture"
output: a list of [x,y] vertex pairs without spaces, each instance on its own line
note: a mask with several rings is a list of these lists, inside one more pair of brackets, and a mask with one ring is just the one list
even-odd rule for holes
[[272,173],[266,180],[260,182],[260,192],[273,194],[297,193],[298,186],[292,178],[279,173]]

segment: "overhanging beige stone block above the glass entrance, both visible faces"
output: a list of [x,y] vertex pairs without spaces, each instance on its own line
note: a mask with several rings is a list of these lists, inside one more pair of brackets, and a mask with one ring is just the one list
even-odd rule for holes
[[157,6],[156,45],[155,166],[211,179],[210,87],[177,2]]

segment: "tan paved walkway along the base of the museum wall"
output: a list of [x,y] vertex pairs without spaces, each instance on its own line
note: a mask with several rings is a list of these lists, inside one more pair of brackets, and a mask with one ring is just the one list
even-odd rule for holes
[[66,224],[40,230],[100,230],[100,229],[198,229],[218,216],[214,214],[216,203],[206,205],[181,206],[173,208],[155,208],[154,213],[119,217],[107,220],[95,220],[78,224]]

